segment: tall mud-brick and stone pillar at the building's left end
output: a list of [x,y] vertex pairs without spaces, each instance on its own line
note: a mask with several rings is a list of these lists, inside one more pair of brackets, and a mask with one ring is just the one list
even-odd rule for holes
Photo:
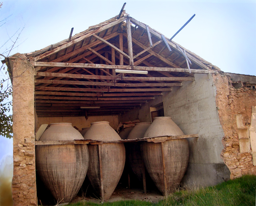
[[13,75],[13,205],[37,205],[34,67],[22,54],[10,57],[9,61]]

